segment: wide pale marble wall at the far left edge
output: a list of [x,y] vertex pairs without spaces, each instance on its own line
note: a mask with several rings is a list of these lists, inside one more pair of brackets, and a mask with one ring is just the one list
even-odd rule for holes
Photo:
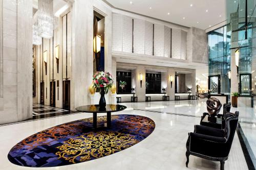
[[32,86],[28,86],[32,85],[32,1],[2,2],[3,72],[0,75],[3,75],[3,87],[0,88],[3,88],[3,94],[0,95],[0,124],[32,117]]

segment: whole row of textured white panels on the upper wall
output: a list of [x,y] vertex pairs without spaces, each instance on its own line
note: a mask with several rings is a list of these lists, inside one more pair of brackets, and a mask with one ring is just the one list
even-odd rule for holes
[[[164,24],[148,22],[122,14],[113,13],[113,42],[112,50],[115,53],[154,55],[157,57],[171,57],[186,60],[187,33],[182,29],[173,29]],[[132,46],[132,19],[134,19],[134,41]],[[154,33],[153,33],[154,24]],[[154,34],[154,44],[153,44]],[[172,36],[172,37],[171,37]],[[172,40],[171,40],[172,39]],[[172,41],[172,47],[171,47]],[[154,46],[154,50],[153,50]],[[154,51],[154,54],[153,54]]]

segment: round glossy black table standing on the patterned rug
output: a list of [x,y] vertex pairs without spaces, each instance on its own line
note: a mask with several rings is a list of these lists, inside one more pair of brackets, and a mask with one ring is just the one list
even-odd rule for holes
[[93,128],[97,128],[97,113],[106,113],[106,126],[111,127],[111,112],[118,112],[126,109],[123,105],[106,105],[105,107],[99,105],[86,105],[76,108],[77,111],[93,113]]

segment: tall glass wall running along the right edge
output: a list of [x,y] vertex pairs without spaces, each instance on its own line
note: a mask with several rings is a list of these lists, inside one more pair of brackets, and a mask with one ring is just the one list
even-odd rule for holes
[[[243,143],[242,147],[245,146],[244,154],[249,155],[249,157],[245,157],[248,167],[254,169],[256,167],[254,156],[256,155],[256,100],[254,100],[256,88],[256,1],[226,0],[226,3],[227,22],[231,33],[231,57],[236,57],[235,51],[239,52],[237,55],[239,56],[238,89],[234,89],[239,92],[238,108],[232,107],[231,112],[240,112],[238,136]],[[237,72],[237,70],[232,71]]]

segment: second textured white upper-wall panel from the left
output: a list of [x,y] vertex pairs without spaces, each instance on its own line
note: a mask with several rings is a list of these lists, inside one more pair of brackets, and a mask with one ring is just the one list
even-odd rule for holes
[[132,18],[123,15],[122,30],[123,30],[123,52],[132,53],[132,45],[133,45],[133,21],[132,21]]

